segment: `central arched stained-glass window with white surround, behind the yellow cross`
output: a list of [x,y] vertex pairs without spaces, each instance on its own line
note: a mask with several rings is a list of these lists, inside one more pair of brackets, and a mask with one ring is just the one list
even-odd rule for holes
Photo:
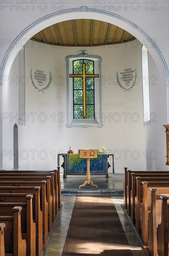
[[66,127],[102,127],[101,58],[69,55]]

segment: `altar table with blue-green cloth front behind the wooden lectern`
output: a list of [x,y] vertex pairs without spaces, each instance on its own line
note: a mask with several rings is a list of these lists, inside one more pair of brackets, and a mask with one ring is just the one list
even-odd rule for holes
[[[67,175],[86,175],[87,160],[80,158],[79,154],[57,154],[57,166],[60,167],[60,157],[63,157],[63,178]],[[90,160],[90,173],[91,175],[106,175],[108,178],[108,168],[111,165],[108,158],[112,157],[113,173],[114,173],[114,158],[113,154],[99,154],[97,158]]]

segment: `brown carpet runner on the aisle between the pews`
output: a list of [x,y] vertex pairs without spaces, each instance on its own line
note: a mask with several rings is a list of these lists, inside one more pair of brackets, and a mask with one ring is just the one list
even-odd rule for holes
[[76,197],[62,256],[132,256],[111,197]]

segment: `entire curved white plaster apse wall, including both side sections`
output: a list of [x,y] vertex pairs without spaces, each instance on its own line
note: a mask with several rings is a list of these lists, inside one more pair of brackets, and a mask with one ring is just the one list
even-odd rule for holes
[[[66,61],[65,56],[78,54],[80,48],[53,47],[29,41],[25,48],[26,116],[25,126],[19,125],[20,169],[53,169],[57,153],[67,152],[71,145],[79,148],[99,148],[105,145],[114,153],[115,172],[130,169],[166,169],[165,133],[167,122],[166,87],[156,63],[149,54],[150,110],[155,113],[151,125],[143,125],[141,44],[138,40],[122,45],[86,48],[89,54],[100,55],[102,61],[103,128],[66,128]],[[124,68],[137,69],[138,83],[131,92],[124,92],[114,76]],[[53,79],[50,88],[38,92],[30,72],[44,70]],[[16,57],[10,77],[3,87],[3,168],[13,168],[13,125],[18,113],[19,58]],[[153,84],[154,75],[156,81]],[[153,76],[153,77],[152,77]],[[158,95],[162,100],[157,100]],[[135,114],[136,113],[136,114]],[[6,117],[6,118],[5,118]],[[154,115],[152,114],[152,118]],[[44,121],[44,119],[46,119]],[[137,121],[137,119],[139,119]],[[155,159],[154,159],[155,158]],[[110,161],[111,162],[111,161]],[[112,171],[112,167],[109,169]]]

